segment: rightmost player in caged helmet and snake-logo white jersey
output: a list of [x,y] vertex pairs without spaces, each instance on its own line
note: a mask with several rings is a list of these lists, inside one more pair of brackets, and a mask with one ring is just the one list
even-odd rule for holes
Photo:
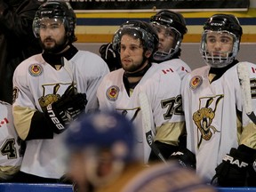
[[[187,147],[196,154],[196,172],[208,182],[215,175],[212,184],[225,187],[255,186],[256,125],[245,114],[237,75],[242,34],[234,15],[212,15],[204,23],[200,47],[207,66],[185,76],[181,86]],[[242,65],[253,84],[256,66]],[[251,107],[256,108],[256,100]]]

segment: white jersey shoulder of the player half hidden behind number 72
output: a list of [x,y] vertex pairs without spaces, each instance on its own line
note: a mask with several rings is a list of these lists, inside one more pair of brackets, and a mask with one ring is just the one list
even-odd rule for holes
[[173,70],[178,72],[181,79],[191,72],[191,68],[189,68],[188,64],[181,59],[165,60],[159,63],[159,65],[169,65]]

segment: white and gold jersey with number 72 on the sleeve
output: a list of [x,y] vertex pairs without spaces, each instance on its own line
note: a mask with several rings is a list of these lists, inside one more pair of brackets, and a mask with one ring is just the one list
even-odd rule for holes
[[145,92],[148,96],[152,110],[150,123],[155,140],[177,146],[178,138],[184,131],[180,76],[170,67],[152,64],[140,83],[135,86],[131,96],[125,90],[123,76],[124,69],[120,68],[104,77],[97,91],[100,109],[115,109],[131,119],[137,127],[136,155],[147,163],[151,149],[142,126],[138,96],[140,92]]

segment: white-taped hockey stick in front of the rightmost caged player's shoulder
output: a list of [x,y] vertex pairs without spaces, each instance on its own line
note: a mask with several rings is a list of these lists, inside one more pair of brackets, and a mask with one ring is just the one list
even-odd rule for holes
[[252,120],[252,122],[256,124],[256,116],[252,110],[250,75],[246,62],[238,63],[237,74],[242,89],[245,113]]

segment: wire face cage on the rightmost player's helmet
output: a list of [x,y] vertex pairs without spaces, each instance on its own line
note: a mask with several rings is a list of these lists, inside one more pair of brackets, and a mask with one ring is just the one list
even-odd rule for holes
[[[231,52],[219,52],[219,54],[215,54],[216,52],[208,52],[207,50],[207,42],[206,37],[209,33],[216,32],[216,33],[227,33],[228,35],[233,37],[233,48]],[[236,54],[239,50],[240,40],[236,37],[235,34],[227,31],[212,31],[212,30],[204,30],[202,39],[201,39],[201,46],[200,52],[202,54],[204,62],[209,65],[211,68],[224,68],[228,66],[228,64],[232,63],[235,60]]]

